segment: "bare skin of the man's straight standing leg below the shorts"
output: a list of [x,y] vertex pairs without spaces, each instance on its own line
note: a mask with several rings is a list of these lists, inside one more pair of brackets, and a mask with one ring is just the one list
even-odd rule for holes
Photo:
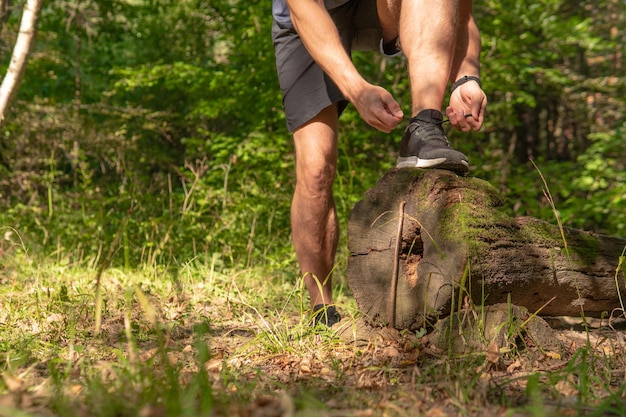
[[322,110],[293,137],[296,189],[291,228],[296,257],[311,305],[331,304],[331,272],[339,236],[332,189],[337,168],[337,107]]

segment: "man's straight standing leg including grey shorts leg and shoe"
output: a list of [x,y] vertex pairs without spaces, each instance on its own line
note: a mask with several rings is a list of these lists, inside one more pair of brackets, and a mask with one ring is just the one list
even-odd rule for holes
[[[350,29],[347,25],[341,33],[349,34]],[[347,102],[293,28],[274,22],[272,39],[287,128],[295,142],[291,225],[296,256],[314,323],[332,326],[341,319],[335,307],[329,306],[333,303],[331,273],[338,241],[332,187],[337,167],[337,119]]]

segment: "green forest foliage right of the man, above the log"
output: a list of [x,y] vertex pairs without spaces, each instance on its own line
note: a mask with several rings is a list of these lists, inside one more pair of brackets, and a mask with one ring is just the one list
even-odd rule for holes
[[[624,74],[624,35],[617,29],[624,24],[623,2],[491,1],[475,7],[490,104],[485,133],[469,135],[471,143],[460,146],[476,165],[474,174],[500,186],[513,214],[552,221],[532,158],[566,225],[623,236],[619,161],[626,151],[610,145],[624,135],[626,85],[615,76]],[[593,172],[591,161],[604,158],[607,166]]]

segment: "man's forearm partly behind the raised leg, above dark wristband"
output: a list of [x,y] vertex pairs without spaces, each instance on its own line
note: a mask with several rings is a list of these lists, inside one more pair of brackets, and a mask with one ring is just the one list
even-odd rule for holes
[[450,81],[465,75],[480,76],[480,32],[472,15],[472,0],[461,0],[454,61]]

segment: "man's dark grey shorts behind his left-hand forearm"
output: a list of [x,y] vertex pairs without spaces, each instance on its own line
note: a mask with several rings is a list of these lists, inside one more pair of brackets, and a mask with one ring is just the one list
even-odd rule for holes
[[[351,0],[328,12],[348,54],[352,50],[379,50],[382,29],[376,0]],[[348,102],[335,83],[313,61],[296,31],[274,21],[272,40],[287,129],[293,132],[334,103],[338,104],[341,114]]]

